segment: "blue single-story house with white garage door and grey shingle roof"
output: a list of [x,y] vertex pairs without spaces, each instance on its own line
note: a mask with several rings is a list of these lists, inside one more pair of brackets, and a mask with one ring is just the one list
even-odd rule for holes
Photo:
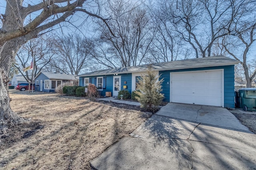
[[[234,108],[234,65],[238,61],[212,56],[151,64],[162,83],[164,101]],[[136,90],[136,78],[148,65],[94,71],[78,75],[79,85],[94,83],[101,95]]]

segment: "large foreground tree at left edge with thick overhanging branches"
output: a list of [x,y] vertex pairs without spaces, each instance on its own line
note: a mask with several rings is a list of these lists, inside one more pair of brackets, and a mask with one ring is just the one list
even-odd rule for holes
[[[30,5],[24,0],[6,0],[5,14],[1,14],[0,22],[0,124],[17,125],[24,121],[10,107],[8,95],[8,73],[20,46],[53,26],[70,18],[75,12],[101,19],[86,10],[86,0],[43,0]],[[90,3],[90,2],[88,2]],[[30,14],[36,14],[33,20],[25,22]],[[28,23],[28,24],[25,24]]]

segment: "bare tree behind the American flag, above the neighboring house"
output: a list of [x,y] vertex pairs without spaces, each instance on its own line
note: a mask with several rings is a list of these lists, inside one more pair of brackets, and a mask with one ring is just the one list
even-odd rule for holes
[[[16,54],[16,60],[18,62],[14,64],[14,66],[27,82],[33,82],[34,77],[44,69],[44,67],[52,60],[53,56],[53,39],[45,34],[39,38],[29,40],[22,45]],[[34,74],[32,69],[27,70],[24,73],[23,68],[30,66],[32,61],[34,62]]]

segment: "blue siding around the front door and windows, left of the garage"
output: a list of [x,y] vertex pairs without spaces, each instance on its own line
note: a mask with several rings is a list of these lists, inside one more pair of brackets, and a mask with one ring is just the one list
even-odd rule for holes
[[[79,85],[84,86],[85,77],[92,78],[92,84],[95,84],[94,77],[106,77],[106,89],[100,91],[100,95],[105,96],[106,92],[111,92],[111,94],[113,95],[113,76],[114,75],[97,75],[79,77]],[[130,93],[132,93],[132,73],[118,74],[118,76],[121,76],[121,90],[128,90]],[[124,81],[126,81],[126,84],[124,84]],[[127,89],[123,88],[124,85],[127,86]]]

